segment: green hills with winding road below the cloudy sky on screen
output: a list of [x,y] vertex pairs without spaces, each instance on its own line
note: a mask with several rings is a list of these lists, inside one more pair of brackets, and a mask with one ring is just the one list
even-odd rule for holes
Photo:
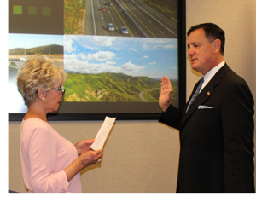
[[157,102],[160,80],[123,73],[67,73],[65,89],[64,101]]

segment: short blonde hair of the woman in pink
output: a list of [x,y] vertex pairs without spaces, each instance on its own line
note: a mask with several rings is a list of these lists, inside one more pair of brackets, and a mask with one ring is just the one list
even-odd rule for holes
[[29,106],[38,98],[38,88],[49,91],[55,84],[63,85],[67,74],[62,66],[42,55],[34,55],[26,61],[17,76],[17,85],[25,104]]

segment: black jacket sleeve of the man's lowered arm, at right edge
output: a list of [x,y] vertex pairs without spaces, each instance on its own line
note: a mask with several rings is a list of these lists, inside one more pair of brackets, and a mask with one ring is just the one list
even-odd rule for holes
[[253,95],[243,81],[233,84],[224,97],[221,118],[226,193],[254,193],[253,104]]

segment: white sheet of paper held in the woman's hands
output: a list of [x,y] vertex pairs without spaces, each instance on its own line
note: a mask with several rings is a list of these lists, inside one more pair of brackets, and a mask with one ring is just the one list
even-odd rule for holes
[[98,131],[95,141],[90,145],[90,148],[93,150],[101,149],[104,146],[105,141],[108,138],[109,132],[113,127],[115,118],[106,117],[102,127]]

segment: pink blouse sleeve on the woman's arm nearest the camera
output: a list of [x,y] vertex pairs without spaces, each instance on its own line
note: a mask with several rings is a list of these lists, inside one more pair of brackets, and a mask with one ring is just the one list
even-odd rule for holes
[[34,193],[67,193],[68,182],[64,170],[54,173],[55,141],[49,130],[35,128],[32,130],[28,145],[31,169],[31,187]]

